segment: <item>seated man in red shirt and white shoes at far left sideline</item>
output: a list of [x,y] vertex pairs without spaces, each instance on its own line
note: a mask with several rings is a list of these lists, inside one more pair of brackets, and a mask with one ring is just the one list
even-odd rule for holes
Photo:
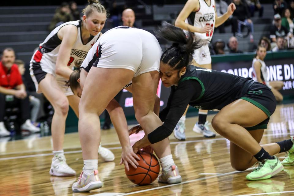
[[[32,133],[40,131],[40,128],[34,126],[30,120],[29,98],[14,61],[14,50],[12,48],[4,49],[0,62],[0,135],[2,136],[9,135],[9,131],[4,126],[6,108],[15,105],[20,105],[21,119],[24,122],[21,129],[29,130]],[[8,97],[9,101],[7,100]]]

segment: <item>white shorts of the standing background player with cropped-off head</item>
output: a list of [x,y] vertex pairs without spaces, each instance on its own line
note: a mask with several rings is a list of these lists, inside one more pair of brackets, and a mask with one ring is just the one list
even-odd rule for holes
[[198,48],[194,51],[193,59],[198,65],[211,64],[211,57],[208,44],[209,42],[206,41],[203,43],[201,48]]

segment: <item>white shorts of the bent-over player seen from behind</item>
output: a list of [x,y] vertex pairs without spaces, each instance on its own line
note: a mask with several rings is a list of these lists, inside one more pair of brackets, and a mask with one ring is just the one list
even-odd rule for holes
[[134,77],[159,72],[162,50],[156,38],[137,28],[116,27],[104,33],[82,63],[89,72],[92,66],[132,70]]

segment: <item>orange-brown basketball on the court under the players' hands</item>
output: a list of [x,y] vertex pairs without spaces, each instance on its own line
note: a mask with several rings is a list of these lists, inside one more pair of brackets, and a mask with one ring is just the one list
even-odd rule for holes
[[126,176],[128,179],[138,185],[151,184],[159,174],[160,166],[159,162],[151,153],[140,151],[137,153],[141,160],[137,160],[139,165],[137,169],[130,165],[130,170],[125,168]]

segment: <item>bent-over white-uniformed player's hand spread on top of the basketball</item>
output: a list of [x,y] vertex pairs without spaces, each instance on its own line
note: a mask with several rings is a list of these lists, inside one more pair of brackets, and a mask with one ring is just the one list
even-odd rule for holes
[[134,153],[134,150],[131,146],[123,147],[122,157],[120,158],[119,164],[124,164],[126,170],[129,171],[129,164],[134,168],[137,168],[139,165],[136,159],[140,160],[140,157]]

